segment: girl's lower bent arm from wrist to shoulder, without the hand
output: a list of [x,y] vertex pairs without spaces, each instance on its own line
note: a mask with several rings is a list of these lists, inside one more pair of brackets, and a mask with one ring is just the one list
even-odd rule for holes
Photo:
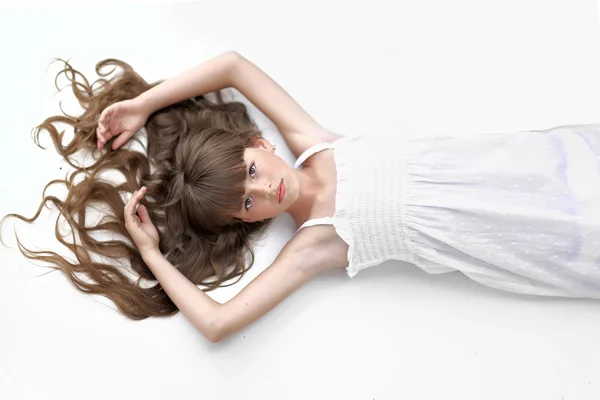
[[307,257],[309,252],[302,248],[309,248],[302,245],[302,239],[288,242],[271,266],[225,304],[198,289],[158,249],[142,256],[179,310],[216,343],[265,315],[323,269],[324,257],[315,255],[324,253],[313,250]]

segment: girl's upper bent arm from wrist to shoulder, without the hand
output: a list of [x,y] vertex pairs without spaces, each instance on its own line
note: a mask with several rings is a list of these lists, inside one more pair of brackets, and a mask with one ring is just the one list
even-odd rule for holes
[[338,137],[322,128],[260,68],[237,52],[227,52],[142,93],[146,113],[201,94],[233,87],[263,112],[296,157],[311,145]]

